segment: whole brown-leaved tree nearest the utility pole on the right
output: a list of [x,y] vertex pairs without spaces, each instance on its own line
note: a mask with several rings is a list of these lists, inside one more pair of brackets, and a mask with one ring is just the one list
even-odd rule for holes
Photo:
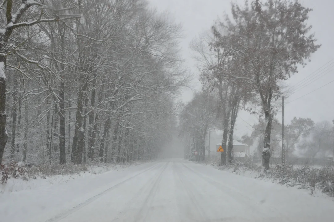
[[232,4],[232,20],[226,18],[218,24],[226,33],[214,27],[220,47],[236,52],[248,67],[244,75],[231,76],[252,86],[260,98],[266,119],[262,152],[265,170],[271,155],[272,101],[280,95],[279,81],[296,73],[297,64],[306,65],[305,60],[320,47],[315,44],[314,34],[307,35],[311,26],[306,21],[311,10],[298,1],[254,0],[243,8]]

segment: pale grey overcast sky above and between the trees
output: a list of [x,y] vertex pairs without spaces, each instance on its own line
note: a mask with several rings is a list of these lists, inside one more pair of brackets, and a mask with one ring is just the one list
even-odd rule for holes
[[[174,17],[175,22],[182,24],[185,36],[181,40],[182,56],[186,60],[185,66],[189,67],[195,76],[194,90],[200,90],[201,85],[197,80],[199,74],[196,68],[197,63],[191,56],[189,44],[194,37],[209,30],[217,18],[222,18],[225,12],[230,12],[231,1],[149,0],[149,2],[158,11],[167,11]],[[244,1],[234,0],[233,2],[243,4]],[[305,68],[299,68],[299,73],[286,81],[287,86],[292,91],[295,89],[295,92],[288,93],[289,97],[285,100],[285,124],[290,123],[295,116],[308,117],[315,122],[334,119],[334,0],[302,0],[301,3],[313,8],[308,24],[313,26],[312,32],[318,39],[317,43],[322,46],[312,55],[311,62]],[[324,86],[325,84],[327,85]],[[313,90],[316,91],[312,92]],[[192,90],[185,90],[182,100],[187,102],[192,96]],[[277,105],[280,104],[277,103]],[[277,118],[281,121],[281,112],[278,113]],[[257,122],[258,116],[241,111],[236,121],[235,137],[250,134],[252,128],[249,125]]]

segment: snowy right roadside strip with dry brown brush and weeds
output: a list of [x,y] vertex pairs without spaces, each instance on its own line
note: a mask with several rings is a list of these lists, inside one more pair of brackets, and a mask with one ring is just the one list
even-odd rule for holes
[[270,170],[264,173],[260,165],[249,162],[236,162],[226,166],[219,166],[217,161],[208,160],[200,164],[243,177],[277,183],[291,189],[304,190],[311,196],[330,198],[334,201],[333,166],[271,165]]

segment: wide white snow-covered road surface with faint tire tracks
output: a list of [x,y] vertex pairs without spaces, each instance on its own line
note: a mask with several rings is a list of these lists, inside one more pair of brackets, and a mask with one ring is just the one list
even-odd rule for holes
[[1,221],[333,221],[304,190],[172,159],[0,194]]

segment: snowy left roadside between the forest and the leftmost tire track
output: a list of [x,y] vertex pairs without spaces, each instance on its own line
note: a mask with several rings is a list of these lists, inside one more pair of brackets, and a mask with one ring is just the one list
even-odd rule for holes
[[11,181],[7,185],[17,190],[0,194],[1,220],[27,221],[28,218],[28,221],[38,222],[51,218],[53,221],[156,165],[155,162],[138,164],[92,167],[76,175],[14,181],[14,186]]

